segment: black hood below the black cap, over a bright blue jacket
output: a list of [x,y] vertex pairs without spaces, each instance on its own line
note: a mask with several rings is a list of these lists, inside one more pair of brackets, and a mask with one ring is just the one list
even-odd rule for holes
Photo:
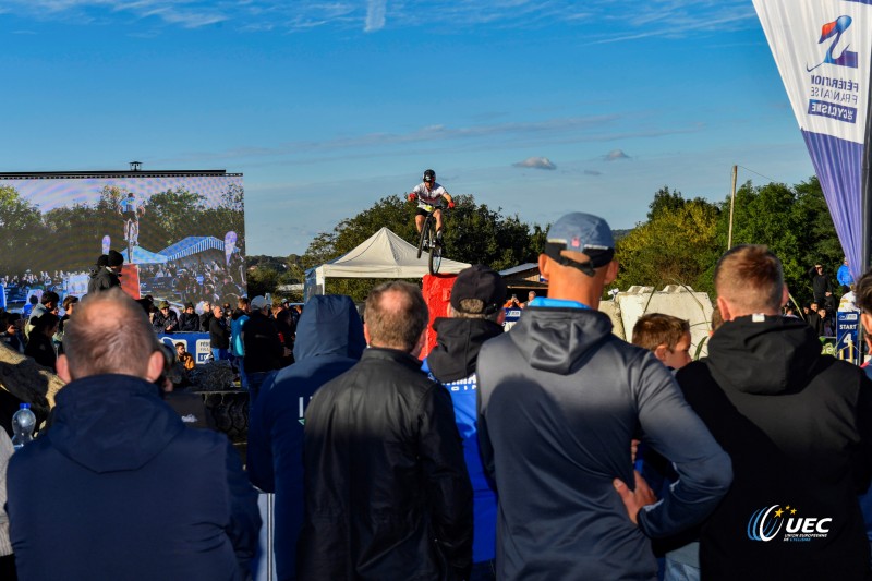
[[427,355],[427,365],[444,384],[472,375],[482,343],[502,334],[502,326],[481,318],[437,318],[433,328],[436,347]]

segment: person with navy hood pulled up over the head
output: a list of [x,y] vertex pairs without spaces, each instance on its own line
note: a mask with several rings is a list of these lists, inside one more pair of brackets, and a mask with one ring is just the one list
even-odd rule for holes
[[295,363],[263,385],[249,424],[249,476],[276,493],[277,579],[295,579],[296,540],[303,524],[304,411],[315,391],[360,360],[366,340],[348,296],[313,296],[296,326]]

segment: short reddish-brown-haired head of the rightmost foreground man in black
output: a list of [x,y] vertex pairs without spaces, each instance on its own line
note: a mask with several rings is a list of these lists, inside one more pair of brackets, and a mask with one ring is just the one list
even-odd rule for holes
[[782,262],[762,244],[728,250],[715,267],[715,292],[729,304],[729,318],[777,315],[785,292]]

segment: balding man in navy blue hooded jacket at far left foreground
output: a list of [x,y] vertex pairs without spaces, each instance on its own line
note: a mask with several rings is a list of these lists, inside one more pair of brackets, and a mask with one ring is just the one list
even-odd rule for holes
[[160,400],[164,354],[120,289],[70,318],[48,432],[9,465],[21,579],[239,580],[261,517],[227,437],[185,427]]

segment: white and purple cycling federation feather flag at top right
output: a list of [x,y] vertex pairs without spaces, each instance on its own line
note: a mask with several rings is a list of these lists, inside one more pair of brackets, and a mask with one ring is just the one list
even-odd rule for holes
[[864,270],[872,0],[753,2],[857,280]]

